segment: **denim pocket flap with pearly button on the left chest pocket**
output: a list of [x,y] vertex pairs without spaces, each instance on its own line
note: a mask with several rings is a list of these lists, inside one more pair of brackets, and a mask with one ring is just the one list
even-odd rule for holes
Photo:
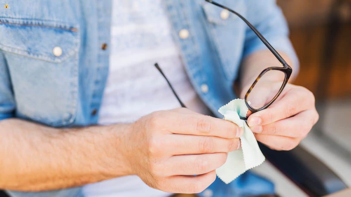
[[60,63],[78,52],[78,30],[78,26],[57,21],[2,17],[0,49]]

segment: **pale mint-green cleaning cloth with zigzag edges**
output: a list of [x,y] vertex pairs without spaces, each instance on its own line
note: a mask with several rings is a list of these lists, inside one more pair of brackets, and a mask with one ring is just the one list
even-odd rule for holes
[[[245,171],[261,165],[265,157],[258,147],[255,136],[249,126],[240,117],[246,117],[249,109],[245,101],[235,99],[219,108],[219,113],[224,116],[224,120],[231,121],[239,127],[244,128],[244,133],[240,137],[241,149],[229,152],[227,161],[216,170],[217,176],[226,184],[229,184]],[[240,115],[240,117],[239,117]]]

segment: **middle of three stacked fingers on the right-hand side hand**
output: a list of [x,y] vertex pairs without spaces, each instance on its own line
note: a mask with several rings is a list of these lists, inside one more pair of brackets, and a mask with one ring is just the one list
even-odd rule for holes
[[293,117],[263,126],[250,127],[253,133],[280,135],[287,137],[305,137],[318,120],[316,110],[306,110]]

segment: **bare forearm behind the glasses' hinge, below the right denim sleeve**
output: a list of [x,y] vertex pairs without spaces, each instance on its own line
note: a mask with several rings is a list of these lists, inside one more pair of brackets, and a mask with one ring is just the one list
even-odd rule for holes
[[[293,73],[290,77],[290,81],[292,81],[296,74],[294,72],[294,65],[292,65],[290,58],[282,53],[279,54],[284,58],[284,60],[292,67]],[[240,92],[247,91],[244,88],[249,88],[251,86],[256,77],[265,69],[272,66],[281,66],[280,62],[273,56],[273,54],[267,50],[261,50],[256,53],[251,54],[250,56],[244,59],[241,64],[241,79],[240,79]],[[264,75],[264,77],[260,80],[271,80],[271,81],[280,81],[283,75],[277,74],[276,72],[269,72]]]

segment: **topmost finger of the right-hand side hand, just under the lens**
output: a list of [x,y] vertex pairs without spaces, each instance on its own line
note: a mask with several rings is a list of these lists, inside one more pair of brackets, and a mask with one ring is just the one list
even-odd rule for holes
[[287,92],[282,99],[274,102],[269,108],[252,114],[247,123],[250,127],[266,125],[278,120],[291,117],[301,111],[314,108],[314,96],[306,88],[294,88]]

